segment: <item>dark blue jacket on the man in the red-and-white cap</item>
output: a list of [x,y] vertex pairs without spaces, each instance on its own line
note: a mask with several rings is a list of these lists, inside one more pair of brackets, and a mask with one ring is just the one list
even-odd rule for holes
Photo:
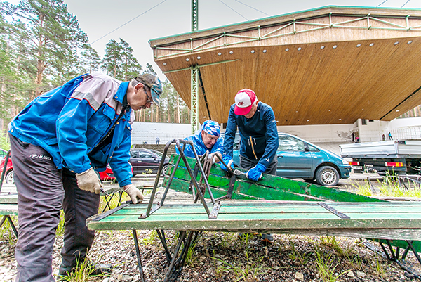
[[279,138],[276,120],[272,108],[262,102],[258,103],[256,113],[248,119],[234,114],[235,104],[229,109],[227,129],[224,136],[224,154],[232,158],[234,138],[237,127],[240,133],[240,155],[259,163],[266,168],[276,155]]

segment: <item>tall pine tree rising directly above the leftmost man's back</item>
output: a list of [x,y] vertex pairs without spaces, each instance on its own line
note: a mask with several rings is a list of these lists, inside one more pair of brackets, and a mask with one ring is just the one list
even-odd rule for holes
[[[77,48],[88,41],[79,28],[76,16],[67,11],[63,0],[22,0],[18,5],[2,3],[8,15],[22,20],[29,40],[26,49],[29,61],[36,68],[36,95],[46,87],[46,75],[73,75],[77,63]],[[23,32],[22,32],[23,33]],[[56,79],[67,79],[62,76]]]

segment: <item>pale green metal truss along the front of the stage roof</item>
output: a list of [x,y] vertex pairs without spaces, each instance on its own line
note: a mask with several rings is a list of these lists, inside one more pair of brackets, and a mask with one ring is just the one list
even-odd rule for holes
[[[342,17],[345,18],[345,20],[340,21],[338,23],[333,23],[332,21],[332,16],[335,17]],[[277,26],[278,28],[276,28],[276,30],[272,30],[270,32],[267,32],[265,34],[262,34],[265,31],[265,26],[260,26],[258,25],[257,27],[251,27],[248,30],[256,30],[258,32],[258,36],[242,36],[242,35],[236,35],[233,34],[235,32],[232,32],[232,34],[230,33],[226,33],[226,32],[222,32],[220,34],[215,34],[213,35],[213,38],[209,39],[208,41],[206,41],[203,44],[200,44],[199,46],[194,46],[193,42],[194,41],[198,41],[198,40],[203,40],[203,38],[199,37],[199,38],[195,38],[195,39],[190,39],[190,48],[175,48],[175,47],[171,47],[171,48],[167,48],[165,46],[153,46],[154,50],[154,58],[155,59],[159,59],[159,58],[166,58],[166,57],[170,57],[170,56],[175,56],[175,55],[180,55],[180,54],[187,54],[187,53],[195,53],[195,52],[199,52],[199,51],[206,51],[209,49],[217,49],[220,47],[225,47],[225,46],[233,46],[233,45],[237,45],[237,44],[242,44],[242,43],[246,43],[246,42],[252,42],[252,41],[263,41],[265,39],[271,39],[271,38],[275,38],[275,37],[284,37],[287,35],[294,35],[294,34],[299,34],[299,33],[303,33],[303,32],[312,32],[314,30],[325,30],[325,29],[329,29],[329,28],[349,28],[349,29],[357,29],[357,30],[398,30],[398,31],[402,31],[402,32],[411,32],[411,31],[415,31],[415,32],[419,32],[421,31],[421,26],[411,26],[410,25],[410,15],[406,15],[405,17],[403,16],[397,16],[397,15],[387,15],[387,16],[380,16],[380,17],[384,17],[384,18],[405,18],[406,19],[406,25],[397,25],[395,23],[391,23],[388,22],[387,20],[381,20],[380,17],[376,18],[375,16],[372,16],[370,13],[368,15],[364,15],[361,16],[361,18],[355,18],[356,15],[347,15],[347,14],[339,14],[339,13],[328,13],[326,15],[321,15],[317,18],[329,18],[329,23],[312,23],[311,21],[307,21],[307,20],[313,20],[314,18],[303,18],[300,20],[290,20],[288,22],[284,22],[284,23],[279,23]],[[346,18],[351,18],[350,20],[347,20]],[[414,18],[414,17],[413,17]],[[351,25],[347,25],[349,23],[355,23],[355,22],[364,22],[366,23],[364,26],[351,26]],[[380,23],[381,25],[390,25],[391,27],[385,27],[385,26],[375,26],[376,23]],[[284,30],[286,27],[290,27],[293,26],[293,31],[291,32],[283,32],[283,33],[279,33],[276,34],[278,32],[281,32],[282,30]],[[302,27],[304,27],[304,30],[297,30],[297,26],[300,25]],[[273,27],[274,25],[271,25],[270,27]],[[236,31],[236,32],[241,32],[241,30]],[[227,39],[229,37],[235,37],[235,38],[242,38],[244,40],[242,41],[236,41],[236,42],[227,42]],[[218,45],[212,45],[212,46],[207,46],[208,44],[212,43],[213,41],[216,41],[218,39],[222,39],[222,44],[218,44]],[[173,43],[173,44],[177,44],[177,42]],[[163,55],[163,56],[158,56],[158,50],[173,50],[173,51],[180,51],[178,53],[171,53],[171,54],[167,54],[167,55]]]

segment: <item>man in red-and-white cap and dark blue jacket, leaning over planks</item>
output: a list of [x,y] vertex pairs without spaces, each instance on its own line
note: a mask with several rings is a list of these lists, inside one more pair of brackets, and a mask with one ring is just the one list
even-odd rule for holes
[[[276,175],[279,138],[274,111],[269,105],[258,101],[253,90],[240,90],[235,96],[235,103],[229,109],[222,160],[232,168],[232,150],[237,128],[241,139],[240,167],[248,169],[248,179],[258,181],[263,172]],[[221,168],[227,170],[222,163]],[[262,241],[272,243],[272,235],[262,234]]]

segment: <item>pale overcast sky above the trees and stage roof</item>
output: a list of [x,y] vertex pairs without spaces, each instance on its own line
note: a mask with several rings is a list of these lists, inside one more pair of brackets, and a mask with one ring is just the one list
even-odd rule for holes
[[[381,4],[380,7],[384,8],[401,8],[403,5],[403,8],[421,8],[421,0],[387,0],[382,3],[384,1],[199,0],[199,30],[329,5],[375,7]],[[18,4],[19,1],[9,2]],[[191,0],[65,0],[65,3],[101,57],[110,39],[124,39],[133,48],[140,65],[145,69],[146,63],[152,64],[161,79],[165,76],[154,63],[149,39],[191,31]],[[120,28],[112,32],[117,27]]]

